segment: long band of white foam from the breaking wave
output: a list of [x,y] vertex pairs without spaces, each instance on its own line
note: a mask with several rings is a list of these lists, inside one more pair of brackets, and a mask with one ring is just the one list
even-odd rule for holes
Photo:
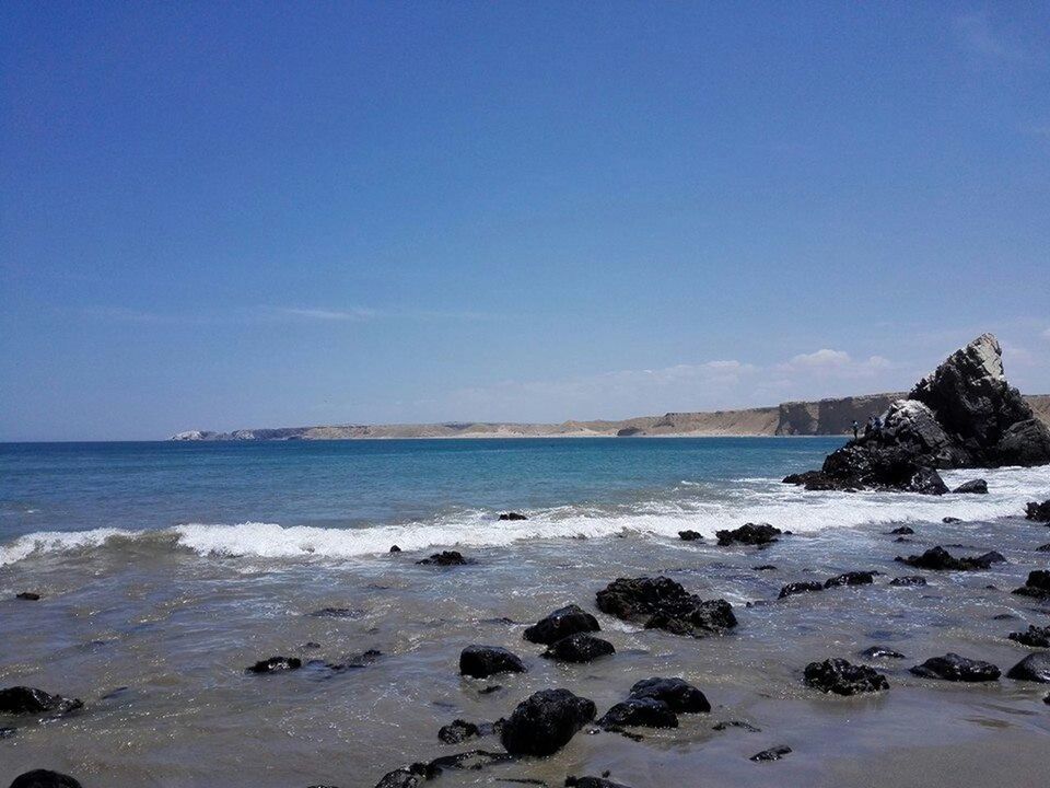
[[405,551],[440,547],[499,547],[518,541],[603,537],[623,531],[675,537],[691,529],[710,537],[715,531],[745,522],[769,522],[795,533],[882,522],[930,522],[952,515],[992,520],[1018,515],[1026,501],[1050,498],[1050,467],[953,471],[943,474],[949,486],[981,476],[988,495],[944,497],[899,493],[806,493],[774,479],[740,479],[718,495],[673,497],[609,507],[561,506],[528,512],[528,520],[494,521],[491,511],[469,510],[425,522],[353,529],[325,529],[278,523],[190,523],[166,532],[97,529],[48,532],[22,536],[0,546],[0,566],[31,556],[84,551],[114,538],[167,536],[200,555],[248,558],[346,559],[386,553],[390,545]]

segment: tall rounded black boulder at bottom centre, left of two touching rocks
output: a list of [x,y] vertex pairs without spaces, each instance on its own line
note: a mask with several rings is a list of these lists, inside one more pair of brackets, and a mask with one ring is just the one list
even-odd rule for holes
[[550,755],[594,719],[594,702],[568,690],[542,690],[514,709],[501,740],[513,755]]

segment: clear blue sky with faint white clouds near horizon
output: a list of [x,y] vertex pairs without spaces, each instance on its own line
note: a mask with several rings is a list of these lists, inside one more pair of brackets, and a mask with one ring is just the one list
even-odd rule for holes
[[1050,393],[1050,4],[0,4],[0,440]]

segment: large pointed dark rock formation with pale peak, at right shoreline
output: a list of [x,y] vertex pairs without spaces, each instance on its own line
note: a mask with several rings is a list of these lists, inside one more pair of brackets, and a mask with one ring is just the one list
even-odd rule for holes
[[891,403],[880,429],[829,454],[819,472],[784,480],[941,495],[947,487],[935,468],[1045,463],[1050,428],[1006,381],[999,341],[982,334]]

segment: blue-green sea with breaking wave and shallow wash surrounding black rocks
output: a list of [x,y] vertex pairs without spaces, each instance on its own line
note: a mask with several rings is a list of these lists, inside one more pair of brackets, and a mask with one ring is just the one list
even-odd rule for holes
[[[1050,706],[1042,697],[1050,687],[1007,680],[961,686],[917,679],[907,668],[954,650],[1005,671],[1030,652],[1005,635],[1050,623],[1050,607],[1008,591],[1050,563],[1035,549],[1050,542],[1050,529],[1003,515],[1019,512],[1040,490],[1050,497],[1050,470],[984,473],[989,496],[850,496],[804,494],[775,480],[817,464],[837,444],[829,440],[744,441],[743,448],[714,441],[711,449],[677,440],[652,441],[656,449],[648,441],[522,441],[503,454],[489,442],[462,443],[485,445],[450,451],[430,443],[434,449],[419,451],[434,456],[407,465],[386,456],[376,462],[387,475],[364,474],[377,479],[372,486],[355,486],[363,473],[355,471],[330,495],[319,479],[342,472],[324,465],[346,462],[339,452],[362,450],[222,444],[165,454],[166,447],[155,445],[142,454],[104,449],[115,453],[101,457],[81,448],[72,456],[45,451],[12,459],[0,448],[8,472],[0,498],[9,512],[0,537],[0,685],[40,686],[86,704],[62,720],[19,721],[18,733],[0,740],[0,785],[50,767],[77,775],[86,788],[369,787],[411,761],[499,749],[495,739],[440,743],[438,728],[456,717],[491,721],[551,686],[592,698],[602,714],[651,675],[697,684],[712,712],[682,715],[676,730],[641,731],[641,742],[581,733],[550,758],[446,773],[440,784],[510,785],[495,783],[510,777],[560,785],[568,774],[605,769],[634,788],[960,785],[981,769],[1003,786],[1042,781],[1050,765]],[[409,451],[388,445],[395,448],[382,450]],[[478,456],[486,452],[494,454]],[[355,456],[351,464],[370,462]],[[407,482],[395,466],[441,468],[442,482]],[[562,472],[583,482],[558,486]],[[592,474],[603,480],[627,474],[630,483],[609,484],[603,500],[599,485],[585,480]],[[972,474],[947,476],[952,484]],[[428,509],[425,498],[439,487],[444,497]],[[266,502],[253,490],[266,490]],[[19,507],[35,511],[10,514]],[[525,509],[532,519],[495,523],[502,507]],[[336,509],[339,517],[330,513]],[[944,524],[947,514],[966,521]],[[253,519],[270,524],[241,524]],[[674,536],[746,520],[794,535],[762,551]],[[898,544],[887,523],[903,520],[917,534]],[[107,537],[98,529],[126,535]],[[52,535],[27,535],[42,532]],[[581,535],[588,537],[574,537]],[[395,540],[405,553],[381,552]],[[413,563],[424,547],[456,543],[478,563],[447,569]],[[938,573],[892,561],[933,544],[965,545],[949,548],[962,555],[995,548],[1008,564]],[[752,570],[763,564],[777,570]],[[873,586],[775,601],[786,582],[853,569],[884,575]],[[739,626],[695,640],[598,614],[617,653],[590,665],[548,662],[538,656],[541,647],[522,640],[525,625],[550,610],[576,602],[594,611],[594,593],[609,580],[654,573],[704,598],[724,596]],[[925,575],[930,586],[888,586],[895,575],[911,573]],[[15,601],[22,590],[45,598]],[[350,613],[308,615],[327,606]],[[1003,614],[1016,617],[995,617]],[[460,679],[458,653],[471,642],[511,648],[529,672]],[[888,693],[841,699],[802,684],[807,662],[860,661],[856,652],[875,644],[908,657],[878,665]],[[271,654],[340,662],[371,648],[383,656],[346,672],[243,671]],[[502,688],[481,692],[494,684]],[[727,719],[761,732],[712,730]],[[777,763],[748,761],[778,744],[794,752]]]

